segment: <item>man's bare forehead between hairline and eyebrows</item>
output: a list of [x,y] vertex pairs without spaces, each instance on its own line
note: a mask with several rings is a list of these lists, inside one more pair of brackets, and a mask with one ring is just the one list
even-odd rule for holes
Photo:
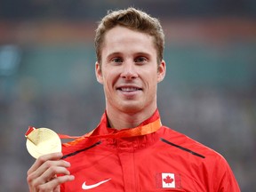
[[102,45],[102,54],[132,51],[156,54],[153,36],[121,26],[108,30]]

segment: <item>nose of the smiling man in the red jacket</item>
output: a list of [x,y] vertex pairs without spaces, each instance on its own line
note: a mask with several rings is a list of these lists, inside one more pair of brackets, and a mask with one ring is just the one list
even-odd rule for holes
[[137,68],[134,62],[123,63],[121,77],[127,80],[132,80],[138,77]]

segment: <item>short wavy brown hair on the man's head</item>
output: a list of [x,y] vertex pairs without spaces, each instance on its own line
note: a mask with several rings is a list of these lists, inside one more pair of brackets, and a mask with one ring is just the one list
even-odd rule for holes
[[124,10],[110,11],[100,21],[94,39],[96,56],[99,63],[101,63],[101,49],[105,34],[108,30],[118,25],[153,36],[157,52],[157,62],[160,63],[163,60],[164,32],[159,20],[149,16],[146,12],[130,7]]

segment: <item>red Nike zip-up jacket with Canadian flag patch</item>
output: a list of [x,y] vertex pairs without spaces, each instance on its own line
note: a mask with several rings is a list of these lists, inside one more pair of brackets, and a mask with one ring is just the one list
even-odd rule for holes
[[63,144],[76,179],[61,191],[240,191],[223,156],[162,126],[157,110],[133,129],[107,125],[105,113],[90,136]]

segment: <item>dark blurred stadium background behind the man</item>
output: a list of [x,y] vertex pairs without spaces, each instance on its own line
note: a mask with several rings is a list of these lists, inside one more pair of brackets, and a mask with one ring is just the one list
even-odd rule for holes
[[70,135],[97,126],[94,30],[128,6],[164,27],[163,124],[220,152],[241,190],[256,191],[256,1],[0,0],[1,192],[28,191],[28,125]]

